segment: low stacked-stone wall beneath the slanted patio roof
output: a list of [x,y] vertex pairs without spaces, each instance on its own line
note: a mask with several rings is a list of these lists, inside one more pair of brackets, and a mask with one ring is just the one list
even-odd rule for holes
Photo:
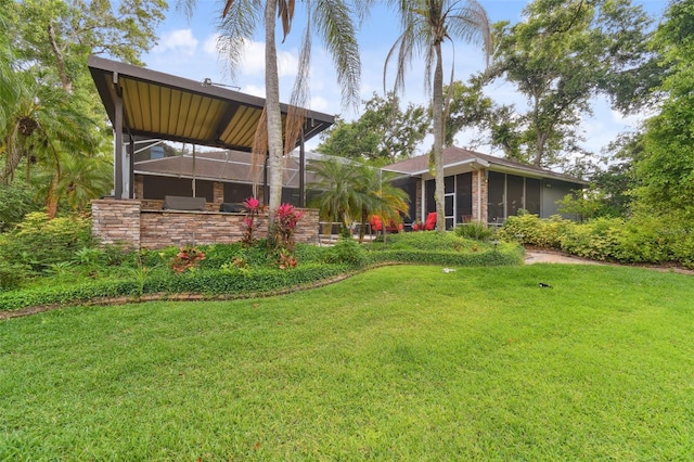
[[[149,205],[149,204],[147,204]],[[104,244],[127,243],[136,248],[187,244],[228,244],[243,238],[245,214],[141,209],[141,201],[92,201],[92,234]],[[304,209],[296,242],[318,242],[318,210]],[[257,218],[256,238],[267,236],[267,214]]]

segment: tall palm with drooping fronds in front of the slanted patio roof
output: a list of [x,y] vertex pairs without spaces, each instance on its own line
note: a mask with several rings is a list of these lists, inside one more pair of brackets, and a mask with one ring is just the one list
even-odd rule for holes
[[[197,0],[179,0],[179,4],[192,11]],[[301,41],[299,69],[290,99],[291,111],[287,114],[286,131],[283,140],[282,116],[280,110],[280,84],[278,74],[275,21],[282,25],[283,39],[290,34],[294,21],[296,0],[227,0],[221,13],[220,49],[226,53],[232,77],[243,56],[245,43],[252,39],[256,27],[265,25],[266,46],[266,107],[258,127],[254,151],[256,154],[269,153],[270,210],[279,207],[282,198],[282,158],[295,145],[300,136],[303,114],[308,93],[308,72],[310,66],[312,35],[317,33],[332,54],[337,80],[343,88],[343,103],[359,103],[359,81],[361,64],[359,49],[355,38],[356,29],[352,13],[364,13],[371,0],[305,0],[306,29]],[[355,10],[356,9],[356,10]],[[275,20],[278,18],[278,20]],[[270,224],[273,217],[270,217]]]

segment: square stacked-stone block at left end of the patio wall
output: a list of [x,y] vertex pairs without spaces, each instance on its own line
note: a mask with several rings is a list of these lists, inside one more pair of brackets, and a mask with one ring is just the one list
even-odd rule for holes
[[105,198],[91,202],[92,235],[102,244],[140,248],[140,201]]

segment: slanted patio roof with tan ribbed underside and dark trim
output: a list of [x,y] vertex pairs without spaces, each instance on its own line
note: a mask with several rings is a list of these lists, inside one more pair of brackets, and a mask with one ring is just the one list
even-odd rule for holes
[[[124,131],[131,136],[252,151],[265,99],[94,55],[88,66],[114,126],[117,97],[123,98]],[[288,105],[281,110],[284,120]],[[334,121],[306,111],[304,141]]]

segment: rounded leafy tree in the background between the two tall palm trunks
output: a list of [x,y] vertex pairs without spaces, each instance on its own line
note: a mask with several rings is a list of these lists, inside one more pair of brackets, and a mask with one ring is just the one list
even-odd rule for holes
[[429,130],[426,110],[410,103],[403,111],[394,92],[386,98],[374,93],[363,104],[359,119],[351,123],[338,119],[321,133],[323,142],[317,151],[378,165],[411,157]]

